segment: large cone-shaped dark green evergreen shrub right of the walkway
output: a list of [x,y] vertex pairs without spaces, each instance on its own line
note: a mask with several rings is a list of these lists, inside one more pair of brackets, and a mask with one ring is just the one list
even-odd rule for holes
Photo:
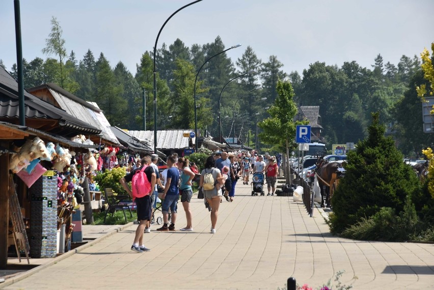
[[369,136],[348,152],[345,177],[332,198],[333,232],[340,233],[362,218],[369,218],[382,207],[400,213],[407,196],[420,191],[413,170],[402,162],[394,141],[385,137],[379,114],[372,114]]

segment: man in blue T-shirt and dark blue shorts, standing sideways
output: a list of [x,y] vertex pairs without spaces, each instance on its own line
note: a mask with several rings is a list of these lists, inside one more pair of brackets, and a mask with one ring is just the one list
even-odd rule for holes
[[[164,189],[164,193],[161,195],[161,198],[164,199],[161,205],[164,225],[160,228],[157,228],[159,231],[175,230],[176,210],[178,209],[177,203],[179,199],[179,170],[175,167],[176,162],[177,160],[174,155],[170,155],[167,159],[168,171],[166,187]],[[170,226],[168,226],[169,209],[172,213],[172,223]]]

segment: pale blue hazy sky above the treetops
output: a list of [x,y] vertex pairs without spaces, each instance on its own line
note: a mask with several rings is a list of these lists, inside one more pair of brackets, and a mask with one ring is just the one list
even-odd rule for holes
[[[57,17],[66,49],[82,59],[91,49],[114,67],[119,61],[134,74],[152,50],[164,21],[188,0],[21,0],[23,57],[46,58],[41,49]],[[157,48],[177,38],[186,46],[220,36],[235,61],[250,45],[263,62],[275,55],[285,72],[316,62],[341,66],[357,61],[370,68],[381,54],[397,64],[402,55],[420,56],[434,42],[433,0],[203,0],[173,16]],[[14,1],[0,0],[0,59],[16,63]]]

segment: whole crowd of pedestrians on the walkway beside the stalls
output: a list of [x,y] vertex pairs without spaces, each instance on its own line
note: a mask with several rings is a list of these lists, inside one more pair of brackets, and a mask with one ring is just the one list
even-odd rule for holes
[[[250,175],[263,174],[266,180],[268,193],[274,195],[275,184],[279,171],[279,157],[252,152],[215,152],[210,155],[200,172],[199,191],[204,196],[205,206],[210,210],[211,233],[216,233],[216,225],[219,216],[222,197],[228,202],[235,199],[235,187],[239,178],[243,184],[249,184]],[[137,161],[127,175],[119,181],[126,192],[137,204],[137,217],[139,225],[135,232],[135,238],[131,250],[137,252],[149,251],[143,244],[143,234],[151,232],[151,219],[153,209],[156,207],[158,197],[161,198],[161,212],[163,225],[157,231],[175,231],[177,218],[177,204],[180,197],[185,212],[186,226],[180,231],[193,231],[193,215],[190,202],[193,196],[193,179],[199,173],[195,163],[189,164],[189,160],[176,154],[167,158],[167,169],[158,172],[156,163],[158,155],[145,156]],[[128,187],[128,182],[138,180],[134,177],[140,172],[146,176],[148,191],[143,197],[133,196],[133,191]],[[135,179],[134,179],[135,178]],[[158,196],[158,188],[161,193]],[[170,219],[169,219],[170,211]],[[170,222],[170,223],[169,223]]]

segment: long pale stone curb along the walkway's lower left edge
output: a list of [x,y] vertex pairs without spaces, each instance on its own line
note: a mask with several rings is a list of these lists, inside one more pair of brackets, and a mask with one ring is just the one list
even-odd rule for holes
[[97,239],[95,239],[93,241],[90,241],[90,242],[88,242],[88,243],[86,243],[86,244],[84,244],[82,246],[79,246],[79,247],[77,247],[77,248],[75,248],[75,249],[73,249],[73,250],[71,250],[69,252],[66,252],[66,253],[64,253],[64,254],[56,257],[56,258],[53,258],[52,260],[50,260],[49,262],[46,262],[43,265],[40,265],[40,266],[35,267],[35,268],[33,268],[33,269],[29,270],[29,271],[25,271],[22,274],[19,274],[19,275],[15,276],[15,277],[7,279],[5,282],[3,282],[2,284],[0,284],[0,289],[4,288],[5,286],[12,285],[13,283],[16,283],[18,281],[21,281],[21,280],[23,280],[23,279],[25,279],[25,278],[27,278],[27,277],[35,274],[35,273],[38,273],[39,271],[41,271],[41,270],[43,270],[43,269],[45,269],[45,268],[47,268],[47,267],[49,267],[49,266],[51,266],[53,264],[56,264],[57,262],[59,262],[59,261],[61,261],[63,259],[66,259],[66,258],[68,258],[69,256],[72,256],[75,253],[82,252],[83,250],[85,250],[85,249],[93,246],[94,244],[99,243],[100,241],[108,238],[109,236],[111,236],[111,235],[113,235],[113,234],[115,234],[117,232],[120,232],[121,230],[123,230],[123,229],[125,229],[127,227],[130,227],[132,225],[133,225],[132,222],[127,223],[125,225],[122,225],[122,226],[120,226],[120,227],[118,227],[118,228],[116,228],[116,229],[114,229],[114,230],[112,230],[110,232],[107,232],[106,234],[100,236],[99,238],[97,238]]

